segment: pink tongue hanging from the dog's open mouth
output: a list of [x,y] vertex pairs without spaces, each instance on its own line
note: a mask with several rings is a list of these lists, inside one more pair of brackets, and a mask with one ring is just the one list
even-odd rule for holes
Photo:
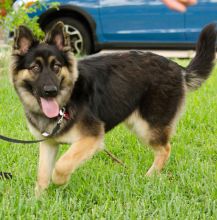
[[48,118],[54,118],[59,115],[59,105],[54,98],[44,99],[41,97],[40,99],[42,110]]

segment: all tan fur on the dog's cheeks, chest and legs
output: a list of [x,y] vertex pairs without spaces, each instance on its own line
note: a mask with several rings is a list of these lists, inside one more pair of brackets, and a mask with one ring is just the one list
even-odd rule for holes
[[[57,74],[57,77],[62,80],[62,87],[60,93],[56,97],[56,100],[60,106],[65,106],[70,98],[74,83],[78,78],[77,63],[74,59],[73,54],[68,53],[69,62],[71,63],[69,68],[62,67],[61,71]],[[40,59],[38,57],[37,59]],[[49,57],[49,62],[52,62],[55,57]],[[41,62],[41,60],[39,60]],[[20,86],[25,79],[35,80],[36,76],[29,70],[14,72],[13,81],[15,88],[18,90],[18,94],[24,106],[29,111],[41,112],[41,108],[36,98],[31,95],[24,87]],[[125,124],[137,134],[137,136],[146,144],[149,144],[155,153],[154,162],[147,172],[150,176],[154,172],[159,172],[165,162],[168,160],[170,155],[170,145],[167,140],[171,136],[172,130],[175,127],[178,116],[181,112],[181,106],[177,111],[171,124],[164,128],[152,128],[149,123],[145,121],[139,114],[139,111],[134,111],[126,120]],[[38,118],[37,118],[38,117]],[[53,128],[56,126],[56,122],[46,122],[41,120],[39,116],[32,118],[33,124],[37,124],[39,130],[28,122],[30,131],[39,139],[43,138],[42,132],[46,131],[51,133]],[[49,121],[49,120],[48,120]],[[65,126],[61,124],[62,127]],[[95,127],[94,127],[95,126]],[[44,130],[43,130],[44,129]],[[101,129],[101,132],[99,131]],[[38,180],[36,184],[36,195],[39,196],[44,189],[46,189],[50,182],[51,173],[52,180],[55,184],[65,184],[71,173],[81,165],[85,160],[89,159],[94,153],[102,148],[103,146],[103,124],[88,125],[83,123],[82,120],[77,121],[69,130],[55,138],[49,139],[40,145],[40,156],[39,156],[39,169],[38,169]],[[165,140],[164,140],[165,139]],[[160,145],[162,141],[166,141],[165,145]],[[55,168],[53,169],[55,157],[60,143],[72,144],[68,151],[56,162]]]

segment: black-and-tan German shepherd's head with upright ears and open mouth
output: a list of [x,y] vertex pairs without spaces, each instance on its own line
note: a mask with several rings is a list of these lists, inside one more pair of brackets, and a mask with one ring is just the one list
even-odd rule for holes
[[58,116],[77,79],[76,61],[62,22],[39,42],[25,26],[15,33],[12,82],[28,111]]

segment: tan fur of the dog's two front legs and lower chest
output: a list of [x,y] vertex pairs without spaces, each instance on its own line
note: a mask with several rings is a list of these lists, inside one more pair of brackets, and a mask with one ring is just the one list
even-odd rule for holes
[[[42,135],[29,124],[30,131],[38,138]],[[90,133],[90,132],[89,132]],[[88,130],[82,124],[75,124],[63,135],[48,139],[40,145],[38,180],[36,183],[35,193],[39,197],[50,182],[51,172],[53,171],[52,180],[55,184],[65,184],[70,174],[85,160],[91,158],[94,153],[103,147],[103,126],[98,136],[87,135]],[[56,162],[55,157],[60,143],[72,144],[69,150]]]

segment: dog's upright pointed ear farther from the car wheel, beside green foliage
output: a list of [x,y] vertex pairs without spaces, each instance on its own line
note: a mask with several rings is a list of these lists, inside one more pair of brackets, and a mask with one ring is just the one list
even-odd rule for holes
[[13,50],[20,55],[25,55],[28,50],[38,41],[34,38],[32,31],[21,25],[15,31]]

